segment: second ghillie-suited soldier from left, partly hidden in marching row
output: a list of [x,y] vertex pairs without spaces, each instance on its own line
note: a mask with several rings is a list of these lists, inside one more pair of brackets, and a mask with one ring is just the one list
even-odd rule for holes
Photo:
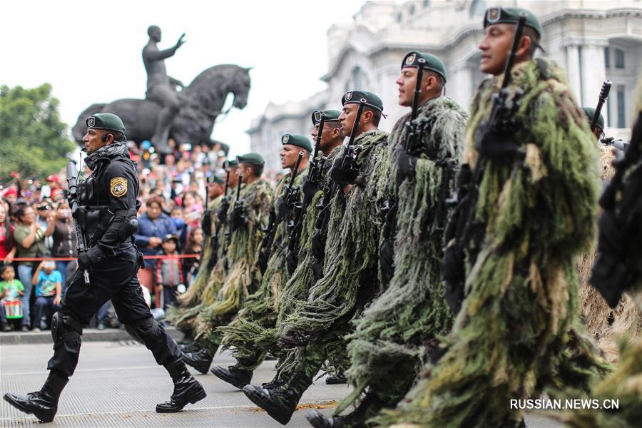
[[[228,218],[231,210],[230,200],[233,198],[232,190],[237,187],[238,183],[237,170],[238,161],[236,159],[228,161],[225,168],[225,190],[223,190],[223,196],[208,203],[212,207],[210,211],[212,229],[211,238],[208,238],[206,242],[203,255],[206,265],[199,270],[188,291],[178,298],[180,303],[178,314],[173,315],[173,319],[170,320],[178,330],[183,332],[185,337],[191,340],[196,335],[198,314],[205,307],[214,303],[218,290],[220,290],[227,276],[228,245],[225,232],[229,228]],[[201,274],[201,272],[203,273]],[[180,346],[183,351],[194,352],[200,350],[197,344],[192,344],[188,347],[185,347],[185,345]]]

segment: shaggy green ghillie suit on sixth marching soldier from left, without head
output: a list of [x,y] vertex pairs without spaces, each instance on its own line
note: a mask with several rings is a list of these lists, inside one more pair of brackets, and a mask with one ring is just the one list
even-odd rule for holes
[[[357,159],[360,173],[347,194],[339,191],[332,198],[324,276],[310,288],[307,301],[297,302],[295,312],[283,322],[286,334],[312,338],[337,330],[338,320],[347,322],[359,315],[357,306],[365,305],[365,295],[372,298],[378,291],[378,211],[388,181],[387,136],[370,131],[355,138],[355,145],[363,146]],[[290,362],[284,363],[284,370]]]

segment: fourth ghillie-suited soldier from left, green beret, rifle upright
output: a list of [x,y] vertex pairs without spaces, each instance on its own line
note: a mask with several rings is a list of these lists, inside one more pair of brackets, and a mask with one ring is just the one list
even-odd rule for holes
[[233,349],[237,362],[228,368],[215,366],[212,372],[239,389],[250,383],[253,370],[267,354],[264,347],[256,346],[255,338],[257,333],[260,335],[276,324],[281,290],[289,276],[285,262],[287,224],[294,221],[295,203],[301,202],[301,183],[312,151],[310,139],[299,134],[284,134],[281,143],[281,168],[289,169],[290,173],[283,175],[275,188],[270,225],[261,245],[259,263],[265,270],[261,286],[248,297],[230,324],[217,329],[223,335],[223,349]]

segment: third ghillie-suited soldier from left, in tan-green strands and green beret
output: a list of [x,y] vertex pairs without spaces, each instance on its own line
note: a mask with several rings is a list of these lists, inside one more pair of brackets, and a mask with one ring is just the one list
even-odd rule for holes
[[272,189],[262,178],[265,164],[262,156],[247,153],[237,156],[237,160],[240,182],[226,232],[229,270],[213,304],[198,314],[196,342],[200,350],[183,353],[185,364],[201,373],[208,372],[220,345],[222,335],[216,327],[233,320],[248,295],[258,290],[261,283],[258,256],[272,205]]

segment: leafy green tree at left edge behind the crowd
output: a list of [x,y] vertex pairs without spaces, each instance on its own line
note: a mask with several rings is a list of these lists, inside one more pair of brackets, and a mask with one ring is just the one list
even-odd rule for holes
[[43,178],[66,165],[75,144],[58,104],[49,83],[33,89],[0,86],[0,183],[11,180],[10,171]]

